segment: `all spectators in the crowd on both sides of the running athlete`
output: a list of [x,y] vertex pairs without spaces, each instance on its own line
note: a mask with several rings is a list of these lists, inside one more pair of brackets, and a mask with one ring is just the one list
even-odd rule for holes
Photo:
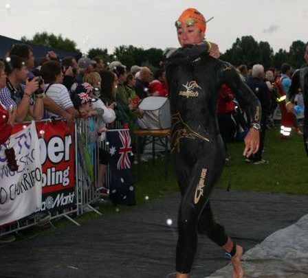
[[[101,57],[76,60],[69,56],[60,59],[52,51],[36,64],[34,66],[32,48],[25,44],[13,45],[8,49],[8,56],[3,58],[3,62],[0,61],[0,143],[8,140],[14,122],[62,118],[70,124],[78,118],[99,117],[102,125],[88,132],[90,141],[94,143],[107,128],[113,128],[115,122],[130,130],[137,128],[137,119],[144,115],[144,111],[138,108],[144,97],[168,97],[164,68],[159,68],[153,74],[151,69],[140,65],[127,69],[120,61],[105,65]],[[245,161],[268,163],[262,157],[265,130],[272,126],[274,111],[281,97],[274,83],[280,82],[284,93],[287,93],[292,67],[285,63],[280,71],[268,69],[265,73],[262,65],[241,65],[238,70],[241,78],[259,98],[262,108],[260,148]],[[217,115],[227,152],[228,141],[239,137],[240,133],[243,139],[250,124],[245,120],[245,111],[239,107],[236,92],[232,92],[225,84],[220,91]],[[296,115],[294,128],[301,134]],[[108,155],[103,150],[98,152],[97,190],[106,194],[104,173]],[[227,152],[226,160],[230,159]]]

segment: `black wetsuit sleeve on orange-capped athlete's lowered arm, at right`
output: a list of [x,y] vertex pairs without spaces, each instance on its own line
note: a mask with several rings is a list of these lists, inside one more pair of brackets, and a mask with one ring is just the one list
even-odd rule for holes
[[243,82],[239,73],[228,62],[223,62],[221,65],[221,78],[236,96],[236,100],[239,100],[241,108],[243,108],[250,117],[250,123],[261,123],[261,104],[250,90],[247,84]]

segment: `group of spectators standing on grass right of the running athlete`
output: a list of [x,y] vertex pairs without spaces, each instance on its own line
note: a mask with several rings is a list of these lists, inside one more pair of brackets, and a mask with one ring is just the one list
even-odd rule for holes
[[[265,143],[265,130],[274,126],[275,113],[281,115],[281,119],[286,117],[283,115],[287,113],[285,111],[285,95],[289,92],[290,85],[292,83],[292,74],[294,69],[292,65],[283,63],[281,69],[267,69],[265,71],[263,65],[240,65],[237,68],[242,80],[250,87],[250,89],[256,94],[261,102],[261,132],[260,132],[260,147],[256,154],[252,157],[246,157],[246,163],[264,164],[269,163],[263,159],[262,154],[264,152]],[[281,88],[278,90],[278,87]],[[298,91],[295,100],[302,100],[302,93]],[[297,102],[296,102],[297,103]],[[226,150],[226,161],[229,161],[231,157],[227,152],[227,142],[234,139],[239,133],[243,133],[240,136],[242,139],[245,137],[245,133],[248,132],[250,123],[247,122],[245,117],[245,111],[241,111],[238,108],[238,102],[236,100],[236,92],[232,92],[228,86],[223,84],[217,105],[217,115],[219,121],[219,129],[223,143]],[[292,118],[292,126],[298,135],[303,135],[298,124],[298,115],[295,112],[288,113],[288,117]],[[281,135],[283,139],[284,137]]]

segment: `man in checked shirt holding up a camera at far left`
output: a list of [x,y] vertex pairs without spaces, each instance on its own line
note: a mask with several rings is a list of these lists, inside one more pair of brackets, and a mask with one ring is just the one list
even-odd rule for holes
[[5,59],[5,72],[8,75],[6,86],[0,91],[3,106],[16,107],[16,121],[19,122],[24,121],[28,113],[34,119],[43,119],[43,80],[39,82],[39,77],[29,80],[25,60],[19,56],[12,55]]

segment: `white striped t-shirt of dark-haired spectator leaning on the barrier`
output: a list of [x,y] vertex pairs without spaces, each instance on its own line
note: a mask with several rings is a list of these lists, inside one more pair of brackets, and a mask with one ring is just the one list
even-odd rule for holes
[[[49,84],[45,84],[45,88],[47,89]],[[74,107],[71,97],[69,96],[69,92],[63,84],[52,84],[45,94],[50,97],[58,106],[67,110],[68,108]],[[60,117],[50,111],[45,110],[46,117]]]

